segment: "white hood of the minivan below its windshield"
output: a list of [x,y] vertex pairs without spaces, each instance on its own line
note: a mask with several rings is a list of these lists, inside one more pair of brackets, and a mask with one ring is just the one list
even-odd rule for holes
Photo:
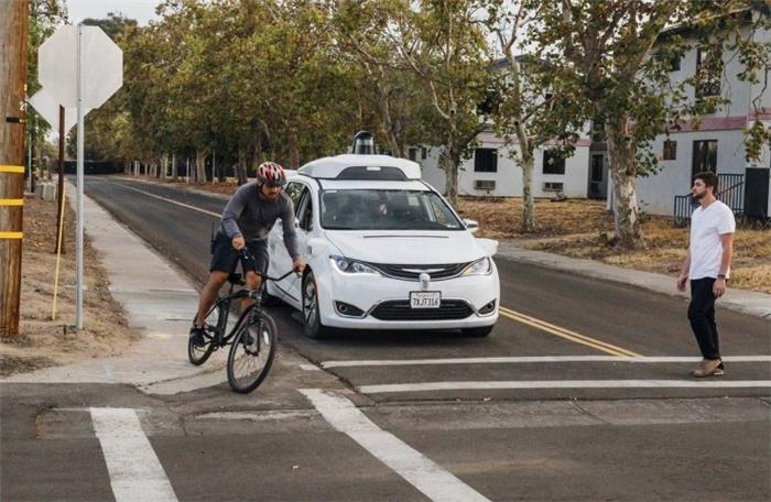
[[[328,230],[327,239],[346,257],[371,263],[467,263],[490,252],[484,239],[467,231],[405,232]],[[490,241],[495,242],[495,241]]]

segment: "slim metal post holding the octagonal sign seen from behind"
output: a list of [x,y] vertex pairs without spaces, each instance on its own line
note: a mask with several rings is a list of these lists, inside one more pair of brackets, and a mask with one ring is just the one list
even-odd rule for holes
[[75,328],[83,329],[83,183],[84,183],[84,117],[86,98],[86,83],[84,81],[85,57],[84,57],[84,33],[83,23],[77,25],[77,230],[75,248],[76,269],[76,299],[75,299]]

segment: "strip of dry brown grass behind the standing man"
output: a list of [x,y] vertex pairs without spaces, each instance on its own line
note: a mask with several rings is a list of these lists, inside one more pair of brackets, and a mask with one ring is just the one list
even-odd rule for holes
[[[644,249],[621,251],[612,245],[612,215],[605,203],[566,200],[535,203],[534,233],[524,234],[520,198],[461,199],[460,214],[479,220],[480,237],[518,239],[528,249],[636,270],[677,275],[688,244],[688,230],[674,228],[666,218],[648,217],[643,223]],[[731,286],[771,293],[771,230],[739,228],[734,244]]]

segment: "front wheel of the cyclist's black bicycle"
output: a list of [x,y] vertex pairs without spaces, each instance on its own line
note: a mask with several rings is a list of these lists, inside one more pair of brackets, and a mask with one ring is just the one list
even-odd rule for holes
[[228,353],[228,383],[235,392],[253,391],[268,376],[275,356],[278,328],[264,312],[236,336]]

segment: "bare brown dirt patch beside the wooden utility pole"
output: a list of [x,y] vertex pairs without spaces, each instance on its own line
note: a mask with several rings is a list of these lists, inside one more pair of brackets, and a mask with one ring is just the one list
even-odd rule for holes
[[85,329],[75,330],[75,214],[66,209],[57,315],[51,320],[56,203],[24,198],[20,334],[0,339],[0,375],[115,356],[141,338],[128,328],[122,306],[110,295],[107,272],[88,238],[84,249]]

